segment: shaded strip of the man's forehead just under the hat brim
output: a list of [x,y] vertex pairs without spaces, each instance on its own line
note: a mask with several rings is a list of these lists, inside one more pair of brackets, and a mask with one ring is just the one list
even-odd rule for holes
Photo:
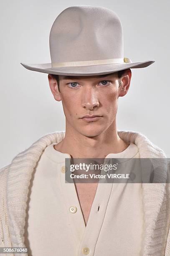
[[74,79],[76,79],[76,80],[83,80],[83,79],[105,79],[105,78],[107,78],[107,79],[109,79],[109,78],[113,78],[113,77],[117,77],[117,72],[114,72],[114,73],[111,73],[111,74],[102,74],[102,75],[95,75],[95,76],[61,76],[61,75],[59,75],[59,79],[60,80],[74,80]]

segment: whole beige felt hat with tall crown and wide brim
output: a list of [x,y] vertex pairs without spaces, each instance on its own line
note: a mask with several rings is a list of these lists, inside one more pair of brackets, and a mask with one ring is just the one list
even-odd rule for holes
[[51,28],[51,63],[21,64],[48,74],[87,76],[144,68],[155,62],[124,58],[123,44],[122,24],[112,10],[71,6],[58,15]]

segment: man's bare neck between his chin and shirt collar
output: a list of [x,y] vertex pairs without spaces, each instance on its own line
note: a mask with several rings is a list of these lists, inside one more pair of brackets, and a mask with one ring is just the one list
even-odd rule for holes
[[129,146],[119,138],[116,122],[103,133],[88,137],[66,125],[65,138],[55,149],[70,154],[73,158],[105,158],[110,153],[120,153]]

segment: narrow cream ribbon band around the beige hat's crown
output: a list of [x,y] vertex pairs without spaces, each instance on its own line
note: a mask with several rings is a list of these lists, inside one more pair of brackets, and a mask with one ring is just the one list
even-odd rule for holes
[[121,64],[132,62],[129,58],[119,59],[99,59],[94,61],[71,61],[71,62],[58,62],[52,63],[52,67],[80,67],[80,66],[94,66],[104,64]]

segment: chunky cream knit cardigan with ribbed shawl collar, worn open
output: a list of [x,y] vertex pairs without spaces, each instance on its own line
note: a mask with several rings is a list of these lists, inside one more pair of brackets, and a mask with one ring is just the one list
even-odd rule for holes
[[[135,143],[141,158],[166,159],[163,151],[141,133],[118,131],[118,135],[128,143]],[[64,136],[65,132],[55,132],[41,137],[0,170],[0,247],[25,247],[25,217],[33,170],[44,149]],[[166,183],[170,179],[169,170],[168,165],[167,169],[160,169],[164,183],[142,183],[146,226],[143,256],[170,256],[170,183]]]

